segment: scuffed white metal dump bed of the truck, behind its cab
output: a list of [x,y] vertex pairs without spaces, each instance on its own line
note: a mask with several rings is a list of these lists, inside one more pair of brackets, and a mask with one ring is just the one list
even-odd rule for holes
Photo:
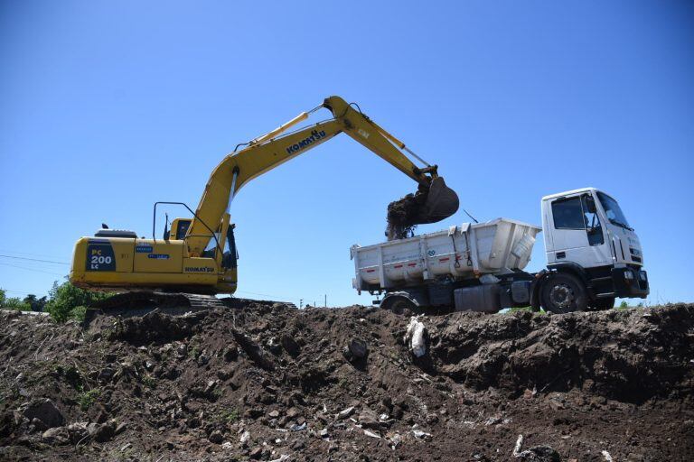
[[384,242],[352,245],[358,291],[417,286],[448,276],[455,280],[522,270],[541,231],[509,218],[451,226],[447,230]]

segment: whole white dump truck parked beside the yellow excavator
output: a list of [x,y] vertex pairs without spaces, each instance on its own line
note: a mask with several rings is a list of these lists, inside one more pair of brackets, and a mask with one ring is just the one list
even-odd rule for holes
[[[542,228],[509,218],[464,223],[376,245],[353,245],[354,288],[382,308],[474,310],[540,306],[554,313],[608,310],[645,298],[641,244],[612,197],[595,188],[542,198]],[[544,230],[547,269],[527,273]]]

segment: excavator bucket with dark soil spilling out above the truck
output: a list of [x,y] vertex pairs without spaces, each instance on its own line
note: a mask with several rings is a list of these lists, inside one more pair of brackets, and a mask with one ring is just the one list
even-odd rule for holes
[[442,177],[431,180],[427,187],[419,187],[416,194],[390,202],[388,206],[388,240],[405,239],[417,225],[436,223],[451,217],[460,201],[453,189],[445,186]]

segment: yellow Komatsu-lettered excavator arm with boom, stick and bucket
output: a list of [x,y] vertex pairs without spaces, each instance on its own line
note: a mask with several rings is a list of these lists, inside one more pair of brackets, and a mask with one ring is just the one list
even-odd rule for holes
[[[333,118],[285,134],[290,127],[304,121],[311,113],[321,108],[329,109]],[[212,237],[209,230],[217,229],[220,219],[229,211],[231,200],[249,180],[340,133],[348,134],[417,181],[420,191],[425,191],[428,195],[427,203],[423,207],[425,212],[419,217],[420,223],[439,221],[455,213],[458,208],[457,196],[453,190],[446,188],[443,179],[438,177],[436,165],[427,164],[418,168],[401,151],[417,157],[404,143],[371,121],[367,115],[353,109],[341,97],[328,97],[323,105],[302,113],[285,125],[280,125],[277,129],[246,143],[246,147],[238,152],[230,153],[212,171],[188,229],[186,241],[189,254],[202,254]],[[418,157],[417,159],[426,163]]]

